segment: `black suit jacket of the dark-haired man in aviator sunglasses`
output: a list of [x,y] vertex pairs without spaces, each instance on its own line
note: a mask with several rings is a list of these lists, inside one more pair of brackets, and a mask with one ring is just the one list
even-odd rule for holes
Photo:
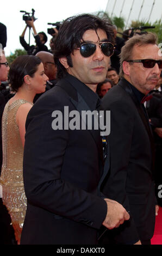
[[105,176],[99,131],[52,129],[53,111],[64,118],[64,106],[69,112],[89,109],[73,83],[80,81],[70,75],[60,80],[27,117],[22,244],[95,244],[107,214],[99,196]]

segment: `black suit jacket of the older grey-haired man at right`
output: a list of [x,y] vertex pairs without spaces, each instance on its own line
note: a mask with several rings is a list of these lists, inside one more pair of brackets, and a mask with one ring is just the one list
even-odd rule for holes
[[145,113],[129,82],[121,79],[103,97],[102,106],[111,111],[110,172],[102,191],[130,212],[130,220],[108,230],[102,243],[132,244],[153,236],[155,195],[153,181],[154,144]]

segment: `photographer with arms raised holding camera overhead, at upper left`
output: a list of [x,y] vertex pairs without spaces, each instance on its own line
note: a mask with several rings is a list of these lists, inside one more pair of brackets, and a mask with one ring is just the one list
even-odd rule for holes
[[[36,33],[36,29],[34,26],[34,20],[28,20],[26,21],[26,27],[22,33],[22,35],[20,36],[20,43],[21,45],[24,47],[24,49],[27,51],[27,53],[29,55],[35,55],[36,53],[40,52],[40,51],[48,51],[47,46],[45,45],[47,42],[47,35],[44,32],[40,32],[40,33]],[[35,38],[35,42],[36,45],[29,45],[27,44],[27,42],[24,40],[24,35],[26,33],[27,28],[30,27],[33,29],[33,35]]]

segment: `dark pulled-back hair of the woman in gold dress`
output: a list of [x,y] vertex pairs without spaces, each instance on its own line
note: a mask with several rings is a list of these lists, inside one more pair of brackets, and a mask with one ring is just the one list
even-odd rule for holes
[[41,62],[39,57],[33,55],[18,56],[11,64],[9,71],[11,89],[17,92],[18,88],[24,83],[24,76],[29,75],[30,77],[34,77]]

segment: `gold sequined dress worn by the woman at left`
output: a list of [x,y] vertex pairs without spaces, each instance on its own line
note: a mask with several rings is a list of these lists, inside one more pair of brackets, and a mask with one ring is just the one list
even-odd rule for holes
[[13,223],[15,237],[20,241],[21,231],[26,214],[27,199],[23,186],[23,146],[16,123],[17,109],[26,100],[16,100],[5,105],[2,117],[3,163],[0,184],[2,199]]

